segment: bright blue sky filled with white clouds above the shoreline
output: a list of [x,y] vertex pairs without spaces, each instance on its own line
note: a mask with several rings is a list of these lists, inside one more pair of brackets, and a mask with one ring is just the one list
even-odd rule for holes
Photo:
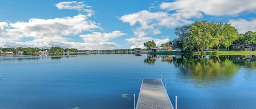
[[1,0],[0,48],[144,48],[178,36],[194,21],[256,31],[255,0]]

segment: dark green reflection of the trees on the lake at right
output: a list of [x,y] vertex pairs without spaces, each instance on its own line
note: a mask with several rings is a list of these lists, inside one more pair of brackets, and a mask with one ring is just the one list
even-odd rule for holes
[[216,80],[233,78],[240,67],[256,68],[256,56],[192,56],[192,55],[148,55],[144,60],[149,65],[160,60],[180,69],[183,78],[197,84],[207,84]]

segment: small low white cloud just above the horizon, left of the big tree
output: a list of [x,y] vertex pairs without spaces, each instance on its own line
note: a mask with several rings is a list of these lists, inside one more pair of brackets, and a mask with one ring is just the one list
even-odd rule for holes
[[156,46],[161,46],[162,43],[169,42],[170,40],[168,38],[166,39],[155,39],[153,37],[132,37],[130,39],[126,39],[127,42],[132,43],[133,46],[130,47],[130,49],[133,48],[145,48],[144,43],[147,41],[152,41],[156,43]]

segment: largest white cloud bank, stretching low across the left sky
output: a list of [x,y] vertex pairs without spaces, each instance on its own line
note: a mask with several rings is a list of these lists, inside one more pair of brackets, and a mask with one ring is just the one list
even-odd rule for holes
[[[28,22],[0,22],[0,47],[114,49],[118,45],[109,41],[125,35],[118,30],[111,33],[93,32],[81,35],[84,31],[90,32],[95,29],[101,29],[99,24],[81,14],[46,20],[32,18]],[[76,35],[80,35],[84,42],[70,42],[63,37]],[[32,40],[23,40],[27,38]]]

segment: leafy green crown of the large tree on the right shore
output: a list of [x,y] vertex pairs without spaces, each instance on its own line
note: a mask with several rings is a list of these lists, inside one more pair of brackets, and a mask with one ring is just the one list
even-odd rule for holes
[[182,51],[192,53],[193,50],[203,51],[206,48],[228,48],[239,39],[237,29],[228,23],[196,21],[175,29],[178,39],[174,46]]

